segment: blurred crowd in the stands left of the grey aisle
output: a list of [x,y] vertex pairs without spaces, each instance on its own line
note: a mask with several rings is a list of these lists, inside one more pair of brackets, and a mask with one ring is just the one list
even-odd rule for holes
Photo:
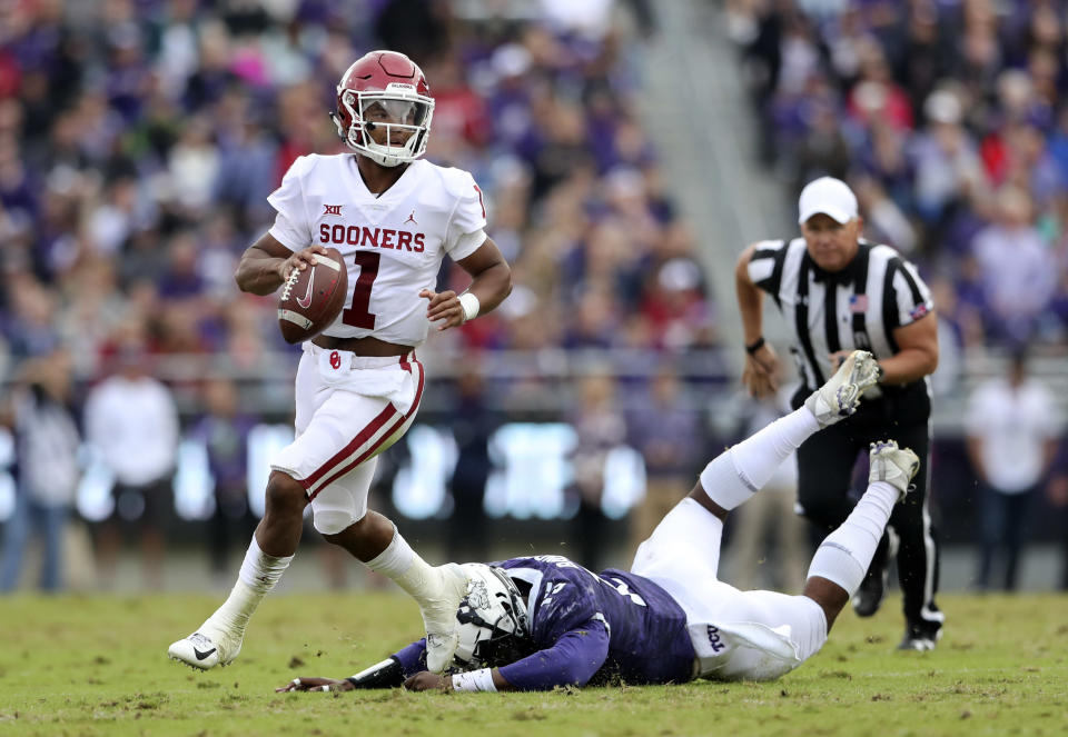
[[711,342],[612,3],[524,4],[475,20],[405,0],[6,3],[0,232],[20,278],[4,280],[3,352],[61,341],[93,376],[123,345],[238,366],[284,348],[233,267],[289,163],[343,150],[334,86],[379,46],[424,67],[428,156],[474,173],[515,265],[515,293],[466,346]]

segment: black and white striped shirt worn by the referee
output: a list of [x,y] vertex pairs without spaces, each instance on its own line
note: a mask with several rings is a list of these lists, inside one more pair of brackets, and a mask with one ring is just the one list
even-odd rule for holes
[[803,238],[765,240],[753,251],[749,277],[793,329],[798,371],[810,391],[831,376],[831,353],[862,348],[889,358],[898,352],[894,329],[933,309],[916,267],[889,246],[866,240],[837,273],[815,265]]

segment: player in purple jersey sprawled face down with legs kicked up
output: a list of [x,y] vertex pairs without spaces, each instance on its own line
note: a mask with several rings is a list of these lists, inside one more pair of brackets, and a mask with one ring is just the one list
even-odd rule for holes
[[720,455],[639,548],[631,570],[600,575],[560,556],[466,564],[456,618],[459,673],[427,673],[421,640],[352,678],[296,678],[293,690],[404,685],[414,690],[545,690],[622,680],[777,678],[827,640],[860,586],[919,460],[893,441],[872,444],[869,486],[823,541],[804,592],[740,591],[719,581],[723,520],[810,436],[856,411],[878,365],[854,351],[804,406]]

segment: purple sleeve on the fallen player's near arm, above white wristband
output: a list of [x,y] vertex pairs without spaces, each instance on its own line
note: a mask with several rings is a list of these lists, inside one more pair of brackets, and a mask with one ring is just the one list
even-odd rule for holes
[[609,657],[609,630],[591,619],[564,633],[552,647],[500,668],[510,684],[524,691],[545,691],[556,686],[584,686]]

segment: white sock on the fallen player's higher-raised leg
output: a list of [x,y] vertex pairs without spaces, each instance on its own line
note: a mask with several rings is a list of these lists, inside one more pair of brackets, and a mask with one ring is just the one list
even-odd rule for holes
[[709,498],[734,509],[763,487],[775,469],[820,429],[812,412],[801,407],[716,456],[701,472]]

